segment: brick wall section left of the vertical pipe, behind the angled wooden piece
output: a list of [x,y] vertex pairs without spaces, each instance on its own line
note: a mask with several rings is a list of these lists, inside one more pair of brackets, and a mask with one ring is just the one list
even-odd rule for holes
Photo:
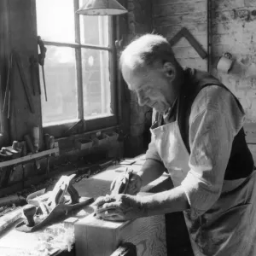
[[[153,23],[156,32],[171,39],[185,26],[202,47],[207,50],[207,1],[158,0],[153,3]],[[182,38],[174,45],[177,61],[183,67],[207,70],[207,60],[202,60],[189,42]]]

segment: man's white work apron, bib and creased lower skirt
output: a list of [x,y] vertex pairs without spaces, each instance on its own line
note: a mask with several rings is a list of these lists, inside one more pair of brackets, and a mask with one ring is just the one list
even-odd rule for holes
[[[179,186],[189,172],[189,152],[177,121],[153,125],[151,133],[174,186]],[[218,201],[200,217],[183,212],[195,256],[256,256],[255,175],[224,181]]]

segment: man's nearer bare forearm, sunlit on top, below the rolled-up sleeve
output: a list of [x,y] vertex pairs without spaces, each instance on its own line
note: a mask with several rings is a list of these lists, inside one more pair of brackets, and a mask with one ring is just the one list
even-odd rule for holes
[[189,209],[189,201],[181,186],[143,197],[146,216],[182,212]]

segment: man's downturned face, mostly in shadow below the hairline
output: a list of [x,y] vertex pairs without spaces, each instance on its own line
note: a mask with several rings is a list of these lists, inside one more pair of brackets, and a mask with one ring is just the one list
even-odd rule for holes
[[137,94],[140,106],[147,105],[161,113],[171,107],[175,99],[172,83],[161,68],[138,71],[124,65],[122,73],[129,89]]

